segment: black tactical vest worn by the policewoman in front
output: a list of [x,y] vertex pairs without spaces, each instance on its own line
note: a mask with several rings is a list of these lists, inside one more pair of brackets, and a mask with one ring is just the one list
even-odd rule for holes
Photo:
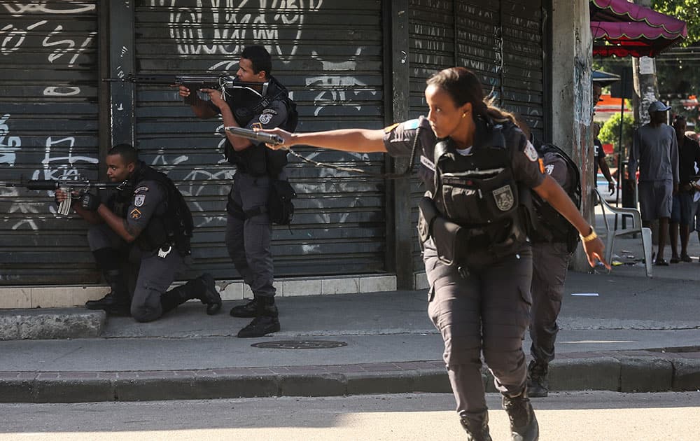
[[[514,179],[513,150],[502,130],[479,119],[468,155],[458,153],[451,139],[440,140],[433,148],[432,200],[438,221],[428,220],[423,228],[430,230],[438,255],[449,265],[470,265],[483,253],[495,258],[508,255],[526,240],[531,199]],[[421,205],[421,216],[426,216],[424,202]],[[438,228],[447,228],[449,235]],[[451,244],[453,240],[456,243]],[[454,249],[440,249],[446,246]]]

